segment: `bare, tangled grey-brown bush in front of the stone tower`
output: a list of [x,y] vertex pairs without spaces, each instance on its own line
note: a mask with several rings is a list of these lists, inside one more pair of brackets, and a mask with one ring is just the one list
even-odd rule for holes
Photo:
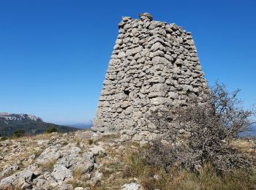
[[251,167],[252,158],[230,146],[231,140],[249,129],[255,115],[241,106],[237,95],[238,91],[230,94],[217,83],[210,93],[202,92],[186,107],[152,113],[149,120],[172,143],[154,142],[143,153],[147,163],[162,165],[165,170],[178,166],[198,171],[206,163],[221,172]]

